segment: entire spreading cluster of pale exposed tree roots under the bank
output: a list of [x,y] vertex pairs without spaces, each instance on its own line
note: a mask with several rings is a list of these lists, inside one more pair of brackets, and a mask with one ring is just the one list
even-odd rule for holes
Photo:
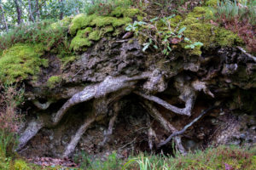
[[[113,125],[118,116],[118,112],[121,108],[119,102],[117,101],[121,99],[123,96],[130,94],[134,89],[136,83],[144,79],[148,79],[148,81],[144,83],[143,88],[145,88],[149,92],[162,92],[164,89],[166,89],[166,82],[160,71],[153,71],[153,73],[145,72],[142,75],[135,77],[106,77],[106,79],[103,82],[87,86],[86,88],[84,88],[83,91],[74,94],[71,99],[68,99],[67,102],[64,105],[62,105],[61,109],[52,115],[52,122],[46,123],[35,120],[30,122],[25,132],[22,133],[20,137],[19,149],[25,146],[26,143],[30,139],[32,139],[32,137],[35,136],[42,127],[55,127],[61,121],[61,118],[67,113],[67,111],[71,107],[73,107],[73,105],[89,101],[90,99],[94,99],[94,109],[92,113],[90,113],[90,115],[87,116],[87,118],[84,120],[84,124],[81,127],[79,127],[77,133],[73,136],[70,143],[67,144],[67,148],[63,153],[63,157],[67,157],[71,153],[73,153],[82,135],[86,132],[86,130],[90,127],[90,125],[93,122],[102,120],[102,118],[108,115],[109,111],[113,111],[113,114],[110,114],[112,115],[112,117],[108,124],[108,130],[106,133],[104,133],[104,139],[102,140],[102,143],[100,145],[102,146],[106,144],[109,140],[109,136],[113,133]],[[139,96],[142,96],[144,99],[148,99],[150,101],[154,101],[158,105],[162,105],[169,111],[173,111],[174,113],[185,116],[191,115],[191,111],[195,103],[196,91],[204,90],[205,93],[213,96],[213,94],[211,94],[207,90],[207,87],[204,82],[196,82],[191,86],[191,84],[188,84],[187,82],[183,81],[183,77],[181,77],[177,80],[175,86],[177,90],[180,92],[180,99],[182,99],[185,102],[185,108],[177,108],[176,106],[170,105],[165,100],[160,99],[154,95],[143,94],[137,91],[134,93]],[[152,105],[152,103],[148,100],[143,101],[143,107],[145,107],[148,113],[151,116],[153,116],[158,122],[160,122],[160,124],[169,133],[176,134],[176,127],[173,127],[170,122],[168,122],[163,116],[161,116],[160,112],[157,111],[157,109],[154,108],[154,105]],[[36,105],[41,110],[45,110],[49,107],[50,102],[41,104],[40,102],[35,101],[34,105]],[[109,109],[112,106],[113,109]],[[172,137],[174,137],[177,150],[179,150],[183,155],[185,155],[186,151],[183,148],[180,136],[175,135]],[[149,125],[148,144],[150,150],[153,149],[155,138],[156,135],[154,133],[154,130]]]

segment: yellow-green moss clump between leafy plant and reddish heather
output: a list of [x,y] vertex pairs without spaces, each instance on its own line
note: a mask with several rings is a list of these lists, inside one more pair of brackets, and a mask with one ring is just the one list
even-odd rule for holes
[[[210,24],[211,18],[212,11],[210,8],[195,7],[180,23],[179,27],[186,27],[183,32],[184,37],[188,37],[192,42],[202,42],[203,48],[231,47],[242,43],[241,38],[236,33]],[[184,43],[183,47],[186,44],[188,43]],[[194,48],[191,50],[191,54],[200,55],[201,49]]]

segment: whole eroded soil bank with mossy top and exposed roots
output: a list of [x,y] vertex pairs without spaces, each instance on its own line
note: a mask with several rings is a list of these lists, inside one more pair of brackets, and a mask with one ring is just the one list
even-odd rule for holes
[[[208,7],[195,7],[166,19],[168,26],[157,20],[133,27],[128,23],[146,20],[137,8],[79,14],[50,26],[64,27],[71,54],[59,43],[4,50],[0,72],[25,87],[20,155],[103,157],[116,150],[126,158],[140,151],[172,154],[173,146],[185,155],[209,145],[255,144],[256,58],[235,33],[212,25],[209,14]],[[151,42],[145,49],[148,37],[137,31],[156,39],[171,31],[172,50]]]

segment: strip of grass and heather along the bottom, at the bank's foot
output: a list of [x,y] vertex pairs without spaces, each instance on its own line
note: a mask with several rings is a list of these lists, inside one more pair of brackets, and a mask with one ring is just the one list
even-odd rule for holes
[[254,170],[256,168],[255,149],[224,145],[204,151],[189,152],[187,156],[177,154],[172,157],[141,153],[138,156],[130,156],[127,160],[118,159],[116,152],[106,157],[105,161],[93,159],[83,152],[76,156],[76,161],[80,161],[82,169],[94,170]]

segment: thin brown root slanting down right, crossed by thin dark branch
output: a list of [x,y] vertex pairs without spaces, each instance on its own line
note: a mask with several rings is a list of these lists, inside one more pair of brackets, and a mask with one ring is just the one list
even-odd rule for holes
[[[166,129],[167,132],[169,133],[175,133],[177,132],[177,129],[175,127],[172,126],[172,124],[170,122],[168,122],[166,120],[165,117],[161,116],[160,112],[154,107],[154,105],[152,105],[151,102],[149,101],[144,101],[143,102],[143,107],[148,111],[148,113],[153,116],[158,122],[160,122],[160,124]],[[174,139],[177,150],[183,154],[186,155],[186,150],[183,147],[183,144],[181,142],[181,138],[180,137],[176,137]]]

